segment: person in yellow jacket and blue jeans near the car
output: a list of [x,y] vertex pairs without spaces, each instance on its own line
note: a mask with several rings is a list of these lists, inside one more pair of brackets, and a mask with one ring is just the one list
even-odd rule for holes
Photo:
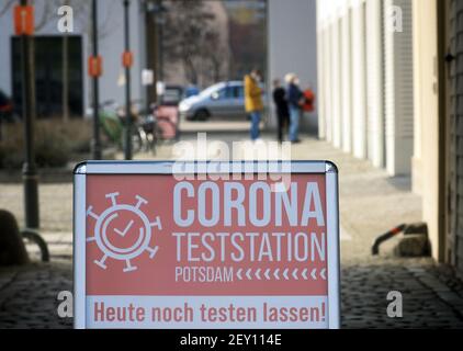
[[259,138],[260,118],[262,116],[262,89],[259,87],[261,75],[258,69],[253,69],[249,75],[245,76],[245,109],[251,117],[251,139]]

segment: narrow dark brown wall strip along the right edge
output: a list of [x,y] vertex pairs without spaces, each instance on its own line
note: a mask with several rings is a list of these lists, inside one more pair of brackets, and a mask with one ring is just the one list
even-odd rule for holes
[[[441,254],[463,274],[463,3],[438,3]],[[436,7],[432,7],[436,11]],[[424,122],[426,124],[426,122]],[[424,140],[425,145],[426,140]]]

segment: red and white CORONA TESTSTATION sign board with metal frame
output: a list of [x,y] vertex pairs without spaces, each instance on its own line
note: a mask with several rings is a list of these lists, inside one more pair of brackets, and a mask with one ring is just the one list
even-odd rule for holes
[[331,162],[81,163],[74,242],[77,328],[339,327]]

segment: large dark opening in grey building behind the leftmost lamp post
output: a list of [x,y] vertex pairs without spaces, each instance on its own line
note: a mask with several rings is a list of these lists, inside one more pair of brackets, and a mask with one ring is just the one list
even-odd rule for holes
[[[68,103],[71,116],[82,116],[82,38],[69,35],[68,39]],[[63,43],[61,36],[34,36],[35,102],[37,117],[63,115]],[[11,39],[12,91],[19,115],[22,115],[21,41]]]

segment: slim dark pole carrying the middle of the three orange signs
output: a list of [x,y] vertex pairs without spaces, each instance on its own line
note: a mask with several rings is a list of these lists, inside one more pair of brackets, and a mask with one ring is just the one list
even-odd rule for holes
[[[92,0],[92,52],[93,58],[98,57],[98,4],[97,0]],[[100,140],[100,89],[99,75],[93,75],[93,140],[92,140],[92,156],[93,159],[100,160],[101,140]]]

